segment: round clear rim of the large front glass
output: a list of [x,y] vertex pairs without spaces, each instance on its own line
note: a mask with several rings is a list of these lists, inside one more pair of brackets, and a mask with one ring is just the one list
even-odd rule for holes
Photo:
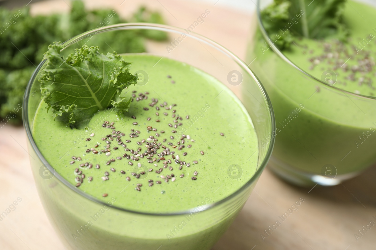
[[[102,33],[102,32],[112,31],[112,30],[133,30],[133,29],[153,29],[153,30],[161,30],[161,31],[167,31],[167,32],[175,32],[175,33],[179,33],[179,34],[186,32],[182,28],[173,27],[173,26],[169,26],[169,25],[162,25],[162,24],[153,24],[153,23],[146,23],[146,22],[143,22],[143,23],[136,23],[136,22],[135,23],[122,23],[122,24],[108,25],[108,26],[104,26],[104,27],[101,27],[101,28],[96,28],[96,29],[93,29],[93,30],[90,30],[90,31],[86,31],[82,34],[79,34],[77,36],[72,37],[71,39],[68,39],[63,44],[71,45],[74,42],[76,42],[77,40],[81,40],[85,37],[88,37],[88,36],[90,36],[92,34],[96,34],[96,33]],[[241,66],[242,69],[244,71],[246,71],[250,76],[252,76],[253,80],[258,85],[258,88],[259,88],[259,90],[261,90],[261,92],[264,96],[264,99],[267,103],[268,113],[269,113],[270,119],[271,119],[271,131],[270,131],[270,133],[272,133],[275,130],[275,127],[276,127],[275,120],[274,120],[273,107],[271,106],[269,96],[266,93],[264,86],[262,86],[259,79],[255,76],[255,74],[247,66],[247,64],[244,63],[235,54],[233,54],[232,52],[230,52],[229,50],[227,50],[226,48],[224,48],[220,44],[214,42],[213,40],[211,40],[211,39],[209,39],[205,36],[202,36],[202,35],[194,33],[194,32],[187,34],[187,36],[191,36],[194,39],[205,42],[206,44],[208,44],[208,45],[218,49],[219,51],[223,52],[225,55],[227,55],[232,60],[234,60],[239,66]],[[67,47],[65,47],[65,48],[67,48]],[[71,190],[76,192],[77,194],[83,196],[84,198],[89,199],[93,202],[96,202],[97,204],[108,205],[106,202],[101,201],[101,200],[95,198],[94,196],[91,196],[91,195],[83,192],[80,189],[77,189],[76,186],[74,186],[73,184],[71,184],[70,182],[65,180],[65,178],[62,177],[57,171],[55,171],[55,169],[47,162],[47,160],[43,157],[42,153],[39,151],[38,146],[35,144],[35,141],[33,139],[33,136],[32,136],[31,130],[30,130],[27,99],[29,98],[32,84],[35,81],[35,78],[38,75],[39,71],[44,66],[45,61],[46,60],[42,60],[41,63],[39,63],[38,66],[36,67],[36,69],[34,70],[32,76],[31,76],[31,78],[30,78],[30,80],[27,84],[25,94],[24,94],[24,97],[23,97],[22,118],[23,118],[23,125],[24,125],[24,128],[26,130],[26,134],[27,134],[27,139],[29,140],[29,142],[30,142],[33,150],[35,151],[36,155],[38,156],[39,160],[41,160],[41,162],[47,168],[49,168],[50,172],[54,173],[53,176],[58,178],[58,180],[61,181],[63,184],[65,184],[65,186],[67,186],[68,188],[70,188]],[[260,139],[261,138],[258,138],[258,142],[260,141]],[[114,205],[111,205],[111,208],[114,208],[114,209],[120,210],[120,211],[125,211],[125,212],[128,212],[128,213],[133,213],[133,214],[143,214],[143,215],[149,215],[149,216],[174,216],[174,215],[191,214],[191,213],[195,212],[196,209],[198,209],[199,207],[203,207],[203,209],[202,208],[199,209],[200,212],[208,210],[210,208],[217,207],[218,205],[223,204],[224,202],[232,199],[233,197],[237,196],[239,193],[243,192],[245,189],[247,189],[247,187],[249,187],[254,181],[256,181],[258,179],[258,177],[261,175],[262,171],[264,170],[265,166],[267,165],[268,160],[270,159],[271,153],[273,151],[274,136],[270,137],[268,145],[269,145],[268,151],[266,152],[265,157],[264,157],[262,163],[260,164],[260,167],[258,169],[256,169],[255,174],[243,186],[241,186],[235,192],[231,193],[229,196],[226,196],[225,198],[221,199],[220,201],[214,202],[212,204],[206,204],[206,205],[203,205],[203,206],[197,206],[197,207],[194,207],[194,208],[189,208],[188,210],[182,210],[182,211],[171,212],[171,213],[147,213],[147,212],[129,210],[129,209],[117,207],[117,206],[114,206]],[[258,162],[259,162],[259,159],[258,159]]]

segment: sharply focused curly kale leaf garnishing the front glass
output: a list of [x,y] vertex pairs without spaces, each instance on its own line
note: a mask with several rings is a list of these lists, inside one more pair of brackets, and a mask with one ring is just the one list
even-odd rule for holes
[[[118,111],[127,110],[119,95],[137,76],[129,72],[130,63],[116,52],[99,53],[99,47],[83,45],[65,59],[60,42],[49,46],[44,54],[47,66],[39,82],[42,98],[55,117],[76,127],[83,127],[96,112],[111,105]],[[123,109],[123,110],[121,110]]]

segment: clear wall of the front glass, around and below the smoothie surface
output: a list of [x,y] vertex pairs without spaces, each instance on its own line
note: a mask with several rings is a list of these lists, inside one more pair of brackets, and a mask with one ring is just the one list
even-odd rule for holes
[[[274,138],[269,138],[266,146],[261,144],[261,138],[269,135],[275,127],[268,96],[247,65],[230,51],[206,37],[166,25],[127,23],[105,26],[66,41],[62,53],[73,52],[82,44],[95,45],[98,41],[103,43],[106,40],[109,43],[111,39],[116,39],[116,33],[121,32],[165,32],[169,41],[146,41],[146,54],[190,64],[214,76],[224,84],[223,87],[231,87],[234,93],[242,97],[258,136],[256,171],[247,183],[223,200],[174,213],[127,210],[117,207],[114,201],[104,203],[87,195],[59,175],[35,144],[32,130],[38,124],[33,124],[33,119],[41,102],[38,78],[46,66],[46,61],[42,61],[27,85],[23,102],[24,127],[39,197],[56,232],[73,249],[157,250],[162,246],[161,249],[174,250],[210,249],[245,204],[271,155]],[[125,52],[122,43],[124,48],[128,46],[127,41],[119,41],[116,48],[118,54]],[[112,51],[109,46],[101,48],[104,54]],[[244,90],[245,95],[240,95]],[[242,157],[250,157],[252,153]],[[233,181],[237,181],[241,168],[246,167],[233,169],[232,165],[224,165],[218,166],[218,171],[229,174]]]

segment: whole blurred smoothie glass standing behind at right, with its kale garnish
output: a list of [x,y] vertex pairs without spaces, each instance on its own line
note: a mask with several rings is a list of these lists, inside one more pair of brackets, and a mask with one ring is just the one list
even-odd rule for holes
[[247,60],[274,107],[276,130],[264,138],[276,137],[271,170],[333,186],[374,165],[375,7],[259,0],[257,10]]

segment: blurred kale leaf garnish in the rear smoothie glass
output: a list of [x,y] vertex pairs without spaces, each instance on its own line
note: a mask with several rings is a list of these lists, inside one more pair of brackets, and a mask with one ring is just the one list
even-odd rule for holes
[[289,48],[294,37],[312,39],[349,35],[343,21],[345,0],[274,0],[261,13],[265,30],[279,49]]

